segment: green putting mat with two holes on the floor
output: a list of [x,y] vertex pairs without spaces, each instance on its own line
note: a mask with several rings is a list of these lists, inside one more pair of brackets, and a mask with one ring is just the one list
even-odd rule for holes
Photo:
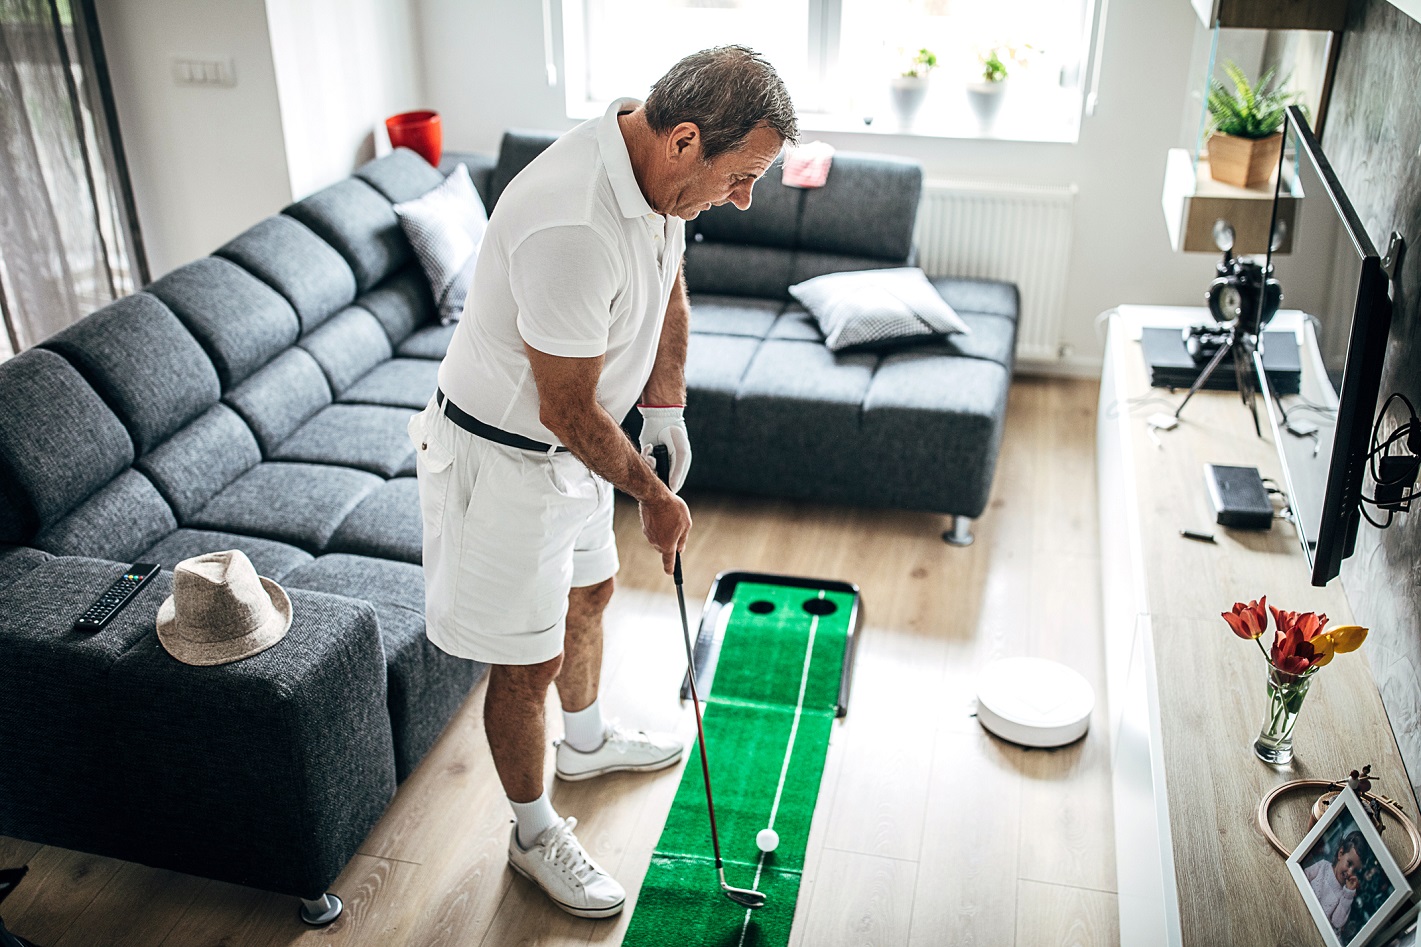
[[[712,590],[720,609],[705,619],[723,626],[709,687],[699,678],[701,646],[696,667],[726,883],[764,892],[766,903],[750,911],[720,892],[699,749],[692,747],[637,897],[627,947],[789,943],[828,734],[844,700],[858,594],[836,582],[800,587],[749,577],[728,573],[716,580],[718,589],[726,583],[728,594],[722,600]],[[755,836],[767,826],[780,845],[763,855]]]

